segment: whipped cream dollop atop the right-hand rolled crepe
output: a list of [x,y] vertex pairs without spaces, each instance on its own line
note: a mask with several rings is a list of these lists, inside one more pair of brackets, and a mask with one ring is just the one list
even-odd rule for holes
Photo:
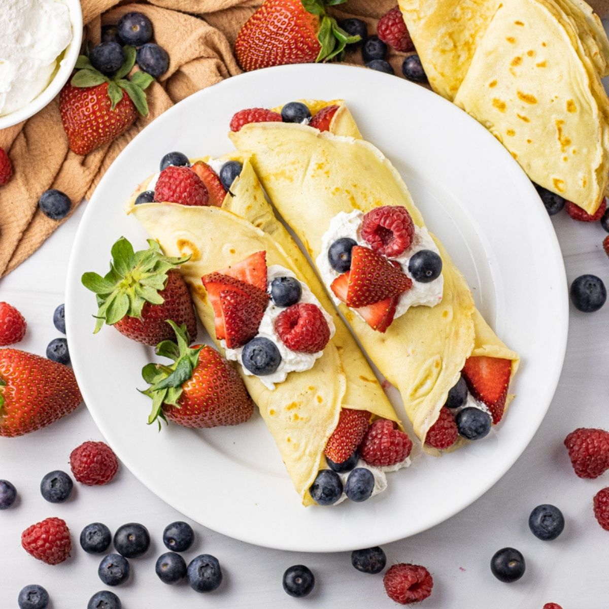
[[[336,216],[330,220],[328,230],[322,237],[322,252],[317,256],[315,261],[317,268],[322,275],[323,283],[328,287],[330,297],[336,305],[339,305],[341,301],[336,298],[334,292],[330,289],[332,282],[340,275],[339,272],[334,270],[328,259],[328,250],[330,246],[342,237],[348,237],[357,242],[357,245],[363,245],[364,247],[370,247],[360,234],[360,227],[364,219],[364,214],[361,211],[355,209],[350,213],[340,211]],[[412,244],[400,256],[393,256],[391,259],[400,262],[402,272],[412,279],[412,287],[406,292],[403,292],[398,300],[398,306],[396,307],[395,315],[393,319],[397,319],[401,315],[404,315],[411,306],[435,306],[442,301],[442,293],[444,290],[444,276],[440,275],[434,281],[429,283],[421,283],[415,281],[410,275],[408,270],[408,263],[410,258],[421,250],[431,250],[432,252],[440,255],[438,248],[436,247],[434,240],[431,238],[426,228],[420,228],[415,225],[415,234],[412,239]],[[357,309],[353,309],[357,313]]]

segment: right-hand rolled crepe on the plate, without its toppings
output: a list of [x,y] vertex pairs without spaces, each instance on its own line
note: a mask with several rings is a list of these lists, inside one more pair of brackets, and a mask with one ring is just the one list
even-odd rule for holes
[[[336,135],[343,129],[354,133],[357,126],[343,102],[333,104],[339,106],[341,118],[331,122],[332,132],[267,122],[230,133],[238,150],[250,155],[271,202],[314,261],[320,255],[323,234],[340,212],[359,209],[366,213],[380,205],[402,205],[418,227],[424,226],[390,161],[363,139]],[[443,298],[438,305],[411,307],[383,334],[340,305],[368,356],[400,390],[406,414],[423,443],[468,357],[508,359],[512,361],[511,376],[518,367],[518,355],[482,319],[465,278],[443,245],[432,238],[443,261]]]

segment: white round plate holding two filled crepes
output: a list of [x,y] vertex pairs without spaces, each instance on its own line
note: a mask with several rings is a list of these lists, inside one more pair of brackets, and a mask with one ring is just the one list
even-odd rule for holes
[[[404,176],[429,228],[465,273],[482,314],[522,357],[512,387],[517,397],[485,440],[440,458],[416,451],[412,467],[390,474],[387,491],[365,503],[307,509],[258,414],[231,428],[170,425],[157,432],[146,426],[150,400],[136,388],[144,386],[141,368],[152,361],[152,350],[109,327],[94,336],[95,298],[80,284],[85,271],[107,271],[110,247],[121,235],[136,248],[146,245],[144,230],[122,209],[166,152],[222,155],[231,149],[227,130],[235,111],[300,98],[347,100],[364,137]],[[484,127],[403,79],[348,66],[298,65],[211,86],[133,139],[100,181],[80,224],[66,319],[72,364],[91,415],[150,490],[231,537],[330,552],[428,529],[470,505],[510,468],[554,395],[566,346],[566,294],[547,213],[524,172]],[[403,414],[399,400],[393,402]]]

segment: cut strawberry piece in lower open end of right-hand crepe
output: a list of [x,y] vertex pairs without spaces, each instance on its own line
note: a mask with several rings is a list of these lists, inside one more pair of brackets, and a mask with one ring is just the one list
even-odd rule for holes
[[501,357],[468,357],[462,373],[474,398],[484,402],[493,415],[493,423],[499,423],[505,409],[512,362]]

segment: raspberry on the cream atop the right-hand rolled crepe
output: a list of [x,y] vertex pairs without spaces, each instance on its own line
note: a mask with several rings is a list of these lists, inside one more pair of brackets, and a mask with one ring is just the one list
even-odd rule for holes
[[399,256],[410,247],[415,225],[405,207],[384,205],[368,211],[362,220],[361,233],[374,252]]

